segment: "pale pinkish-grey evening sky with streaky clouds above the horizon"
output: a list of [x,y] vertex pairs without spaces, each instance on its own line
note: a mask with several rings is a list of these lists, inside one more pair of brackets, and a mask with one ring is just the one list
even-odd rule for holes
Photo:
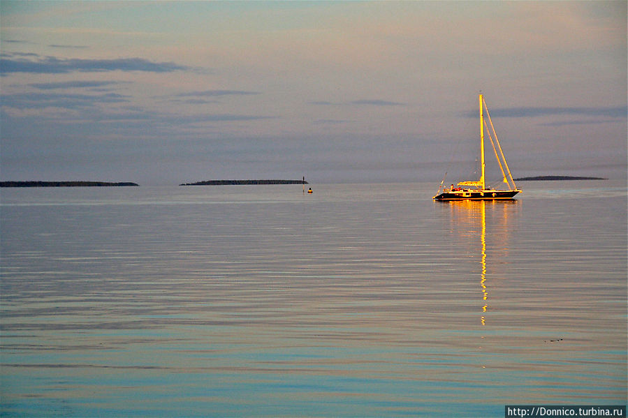
[[0,24],[2,181],[439,183],[473,174],[480,92],[514,177],[627,177],[626,1],[3,0]]

